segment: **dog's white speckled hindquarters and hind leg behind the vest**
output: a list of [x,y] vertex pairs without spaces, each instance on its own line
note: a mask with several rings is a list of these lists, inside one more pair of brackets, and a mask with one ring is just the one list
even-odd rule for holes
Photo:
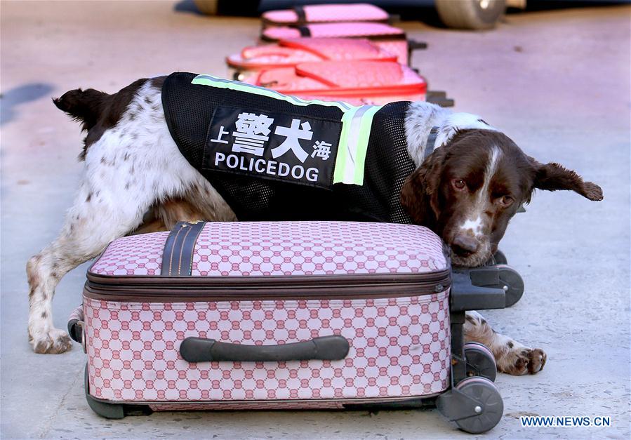
[[[144,81],[139,87],[123,114],[100,116],[119,117],[114,126],[88,131],[93,143],[89,148],[86,144],[85,174],[74,206],[58,238],[27,264],[29,340],[35,352],[61,353],[70,347],[65,331],[53,326],[51,302],[62,276],[98,255],[110,241],[138,229],[152,206],[186,199],[192,192],[204,200],[200,211],[205,220],[234,220],[225,201],[173,142],[161,109],[159,84]],[[111,107],[93,106],[104,112]],[[173,219],[162,215],[156,220],[153,227]]]

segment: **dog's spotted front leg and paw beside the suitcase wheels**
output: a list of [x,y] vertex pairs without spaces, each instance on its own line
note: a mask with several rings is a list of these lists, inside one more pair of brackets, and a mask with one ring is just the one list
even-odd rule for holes
[[507,335],[496,333],[478,312],[467,312],[465,341],[480,342],[495,356],[498,371],[512,375],[535,374],[543,370],[546,355],[540,348],[529,348]]

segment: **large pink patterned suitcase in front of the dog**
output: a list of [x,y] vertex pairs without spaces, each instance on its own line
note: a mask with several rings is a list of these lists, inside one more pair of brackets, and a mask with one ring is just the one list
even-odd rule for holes
[[180,222],[113,241],[69,332],[107,418],[436,404],[483,432],[503,406],[492,354],[463,346],[463,310],[503,307],[504,291],[472,278],[452,281],[415,225]]

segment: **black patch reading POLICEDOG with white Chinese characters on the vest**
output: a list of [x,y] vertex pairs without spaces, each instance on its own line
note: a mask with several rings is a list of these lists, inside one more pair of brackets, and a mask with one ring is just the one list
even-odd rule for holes
[[341,133],[341,121],[219,106],[202,168],[328,189]]

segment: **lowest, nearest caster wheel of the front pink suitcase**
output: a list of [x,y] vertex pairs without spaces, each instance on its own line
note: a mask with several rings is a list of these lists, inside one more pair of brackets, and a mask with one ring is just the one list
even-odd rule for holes
[[471,434],[480,434],[493,429],[500,422],[504,403],[493,382],[486,378],[467,378],[458,383],[456,389],[479,402],[473,408],[475,415],[456,420],[460,429]]

